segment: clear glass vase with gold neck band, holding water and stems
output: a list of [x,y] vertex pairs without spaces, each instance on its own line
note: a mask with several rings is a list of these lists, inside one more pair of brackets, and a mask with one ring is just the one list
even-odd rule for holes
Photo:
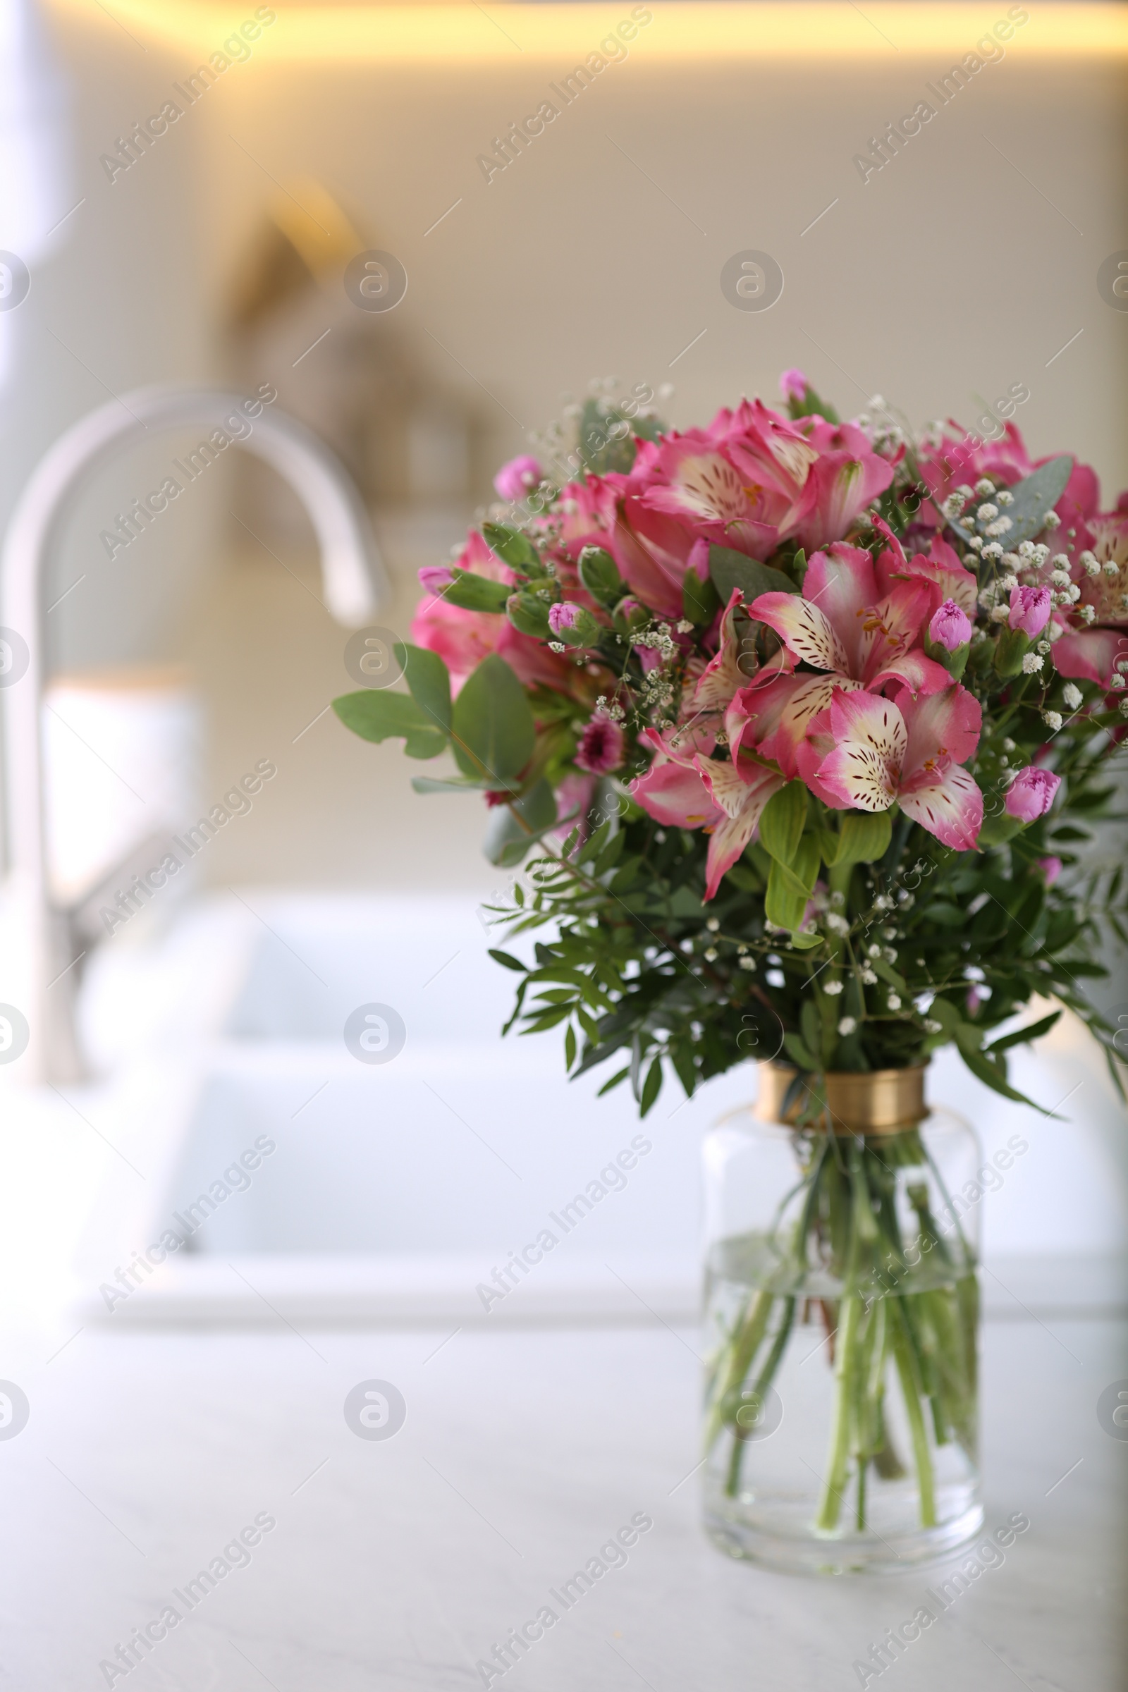
[[890,1574],[983,1523],[972,1129],[923,1069],[800,1079],[705,1140],[705,1526],[805,1574]]

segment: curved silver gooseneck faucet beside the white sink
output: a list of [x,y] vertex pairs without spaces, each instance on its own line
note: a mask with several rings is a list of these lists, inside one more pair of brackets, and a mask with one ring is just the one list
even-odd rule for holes
[[[134,447],[154,430],[216,430],[242,406],[238,394],[157,386],[91,411],[41,460],[8,525],[0,562],[0,672],[12,677],[3,692],[8,870],[0,902],[0,1000],[27,1019],[27,1049],[14,1069],[22,1081],[85,1076],[74,1022],[79,970],[73,964],[78,949],[93,944],[90,927],[76,924],[74,914],[56,904],[49,880],[42,770],[44,563],[76,492],[120,447]],[[348,628],[367,623],[387,601],[387,577],[360,496],[338,459],[301,423],[274,409],[254,416],[252,431],[238,445],[272,465],[303,501],[321,548],[330,613]],[[0,1020],[7,1029],[10,1019]]]

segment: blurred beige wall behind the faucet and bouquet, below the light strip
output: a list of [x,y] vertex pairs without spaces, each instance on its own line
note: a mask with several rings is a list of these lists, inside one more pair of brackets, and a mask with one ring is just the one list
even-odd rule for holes
[[[651,39],[663,27],[653,10]],[[983,27],[996,15],[1005,7],[986,7]],[[52,261],[44,328],[117,391],[216,374],[213,330],[257,220],[277,183],[306,173],[402,261],[408,296],[379,332],[465,391],[499,459],[590,376],[673,382],[666,413],[688,425],[741,393],[773,399],[778,372],[798,364],[844,413],[879,391],[917,421],[972,421],[981,399],[1021,382],[1030,399],[1016,421],[1035,452],[1091,460],[1109,503],[1128,484],[1128,315],[1096,288],[1101,261],[1128,245],[1125,64],[1023,58],[1037,7],[1006,59],[868,183],[854,154],[930,98],[925,85],[950,59],[917,59],[874,34],[869,59],[673,69],[648,61],[644,36],[487,184],[477,154],[572,68],[528,61],[499,36],[489,69],[255,58],[110,188],[98,152],[159,105],[186,59],[156,42],[142,52],[91,19],[59,14],[90,201]],[[744,249],[785,272],[769,311],[734,310],[720,291],[722,264]],[[105,398],[61,354],[44,360],[22,464],[68,413]],[[262,376],[284,399],[286,372]],[[49,401],[52,382],[69,386]],[[382,516],[397,587],[382,623],[406,631],[414,569],[445,555],[467,514]],[[255,810],[216,841],[210,875],[494,885],[474,800],[416,799],[419,765],[352,739],[331,716],[301,733],[350,685],[345,633],[313,597],[313,560],[274,560],[218,523],[206,535],[205,547],[200,533],[162,540],[169,555],[189,538],[206,555],[191,611],[169,626],[157,594],[129,629],[134,646],[159,634],[198,665],[213,724],[208,790],[218,797],[257,758],[279,765]],[[132,602],[112,572],[93,580],[93,597],[63,607],[69,648],[86,656]]]

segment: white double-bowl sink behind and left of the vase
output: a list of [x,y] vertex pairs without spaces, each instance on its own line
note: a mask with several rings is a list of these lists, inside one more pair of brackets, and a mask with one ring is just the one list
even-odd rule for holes
[[[90,1318],[695,1313],[700,1132],[749,1098],[747,1074],[690,1103],[673,1088],[639,1123],[626,1086],[597,1100],[611,1071],[565,1078],[560,1037],[502,1041],[516,976],[470,898],[247,893],[200,934],[191,1027],[120,1112],[145,1181],[112,1171],[83,1252]],[[389,1061],[345,1042],[369,1003],[402,1019]],[[152,1264],[162,1235],[183,1244],[149,1272],[135,1254]]]

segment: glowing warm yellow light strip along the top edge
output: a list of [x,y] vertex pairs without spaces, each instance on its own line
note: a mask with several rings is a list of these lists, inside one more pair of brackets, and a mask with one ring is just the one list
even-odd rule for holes
[[[81,14],[113,29],[95,0],[52,0],[57,12]],[[255,59],[289,63],[521,66],[534,61],[582,63],[600,37],[629,19],[634,0],[577,0],[523,5],[489,0],[487,8],[455,5],[287,5],[254,42]],[[631,42],[648,63],[687,59],[866,59],[957,61],[999,19],[1008,0],[937,5],[869,0],[864,15],[847,0],[753,3],[739,0],[653,0],[654,20]],[[1023,59],[1123,59],[1128,56],[1128,5],[1042,5],[1006,51]],[[135,36],[188,56],[206,58],[244,19],[254,0],[232,5],[191,0],[113,0],[113,20]]]

